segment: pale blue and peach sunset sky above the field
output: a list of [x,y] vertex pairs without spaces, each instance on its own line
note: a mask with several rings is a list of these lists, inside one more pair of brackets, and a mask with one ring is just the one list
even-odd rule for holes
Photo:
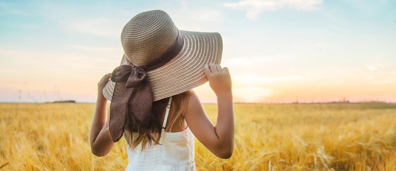
[[396,102],[396,0],[2,0],[0,102],[95,102],[124,25],[155,9],[222,35],[234,102]]

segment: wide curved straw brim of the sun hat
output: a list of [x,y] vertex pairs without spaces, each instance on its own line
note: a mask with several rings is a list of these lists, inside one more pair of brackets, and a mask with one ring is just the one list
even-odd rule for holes
[[[147,72],[153,101],[161,100],[207,82],[203,65],[220,64],[223,40],[219,33],[179,30],[184,39],[180,52],[168,63]],[[123,55],[121,64],[127,64]],[[115,83],[111,80],[103,88],[104,97],[111,101]]]

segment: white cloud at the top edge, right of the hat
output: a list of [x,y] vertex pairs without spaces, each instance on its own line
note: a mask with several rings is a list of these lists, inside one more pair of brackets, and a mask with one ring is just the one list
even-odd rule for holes
[[322,0],[239,0],[238,2],[225,2],[223,6],[246,10],[246,17],[255,19],[263,11],[273,11],[281,8],[292,8],[297,10],[316,10]]

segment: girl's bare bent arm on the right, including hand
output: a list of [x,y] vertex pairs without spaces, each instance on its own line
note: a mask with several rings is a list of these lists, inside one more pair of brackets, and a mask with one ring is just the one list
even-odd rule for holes
[[204,71],[209,80],[209,85],[217,96],[216,126],[206,116],[194,91],[190,94],[184,117],[195,137],[208,150],[220,158],[230,158],[234,150],[235,134],[231,77],[228,68],[222,68],[220,65],[205,65]]

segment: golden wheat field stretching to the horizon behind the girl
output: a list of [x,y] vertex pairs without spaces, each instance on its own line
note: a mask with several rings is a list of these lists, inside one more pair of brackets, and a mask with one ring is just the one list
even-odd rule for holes
[[[0,104],[0,170],[124,170],[125,142],[90,151],[95,104]],[[214,104],[204,105],[215,122]],[[396,171],[396,104],[234,107],[235,149],[219,159],[196,140],[197,170]]]

